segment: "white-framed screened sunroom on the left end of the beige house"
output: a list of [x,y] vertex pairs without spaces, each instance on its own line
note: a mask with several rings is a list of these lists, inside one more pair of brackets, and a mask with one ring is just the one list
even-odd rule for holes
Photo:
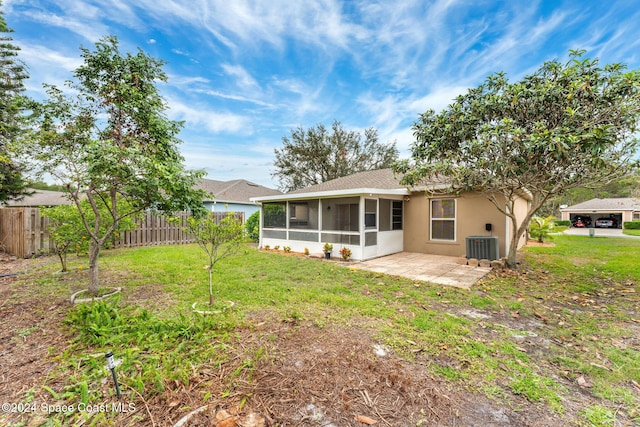
[[264,197],[260,246],[318,255],[325,243],[351,249],[354,260],[401,252],[405,189],[332,191]]

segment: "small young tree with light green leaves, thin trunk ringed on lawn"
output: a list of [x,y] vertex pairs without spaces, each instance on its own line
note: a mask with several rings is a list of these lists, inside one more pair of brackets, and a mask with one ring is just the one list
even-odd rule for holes
[[224,258],[236,255],[244,247],[242,221],[231,212],[218,220],[213,212],[206,216],[188,219],[188,232],[192,234],[209,263],[209,305],[213,306],[213,268]]

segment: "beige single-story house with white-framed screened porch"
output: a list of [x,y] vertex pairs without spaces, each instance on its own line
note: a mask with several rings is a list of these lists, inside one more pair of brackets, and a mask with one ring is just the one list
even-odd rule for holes
[[[507,254],[510,220],[484,195],[430,196],[425,189],[407,189],[391,169],[382,169],[254,197],[262,204],[260,246],[318,254],[326,242],[334,254],[351,249],[355,260],[403,251],[465,257],[467,237],[494,236],[500,257]],[[518,200],[519,218],[528,203]]]

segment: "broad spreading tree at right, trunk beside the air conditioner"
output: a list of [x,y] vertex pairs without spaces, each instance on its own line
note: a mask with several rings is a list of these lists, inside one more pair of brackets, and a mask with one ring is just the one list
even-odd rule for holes
[[[396,167],[406,185],[446,177],[445,191],[483,192],[511,219],[512,267],[519,238],[550,197],[636,166],[640,73],[583,55],[572,51],[515,83],[493,74],[442,112],[421,114],[411,160]],[[531,203],[517,218],[524,193]]]

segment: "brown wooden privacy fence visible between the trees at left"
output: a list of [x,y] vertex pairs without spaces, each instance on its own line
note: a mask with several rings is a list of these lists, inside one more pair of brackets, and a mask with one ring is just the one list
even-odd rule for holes
[[[227,212],[213,215],[220,221]],[[116,234],[111,243],[114,247],[194,243],[193,236],[184,230],[189,214],[180,212],[174,216],[176,219],[170,220],[157,212],[145,212],[135,229]],[[244,223],[244,212],[234,216]],[[48,225],[49,219],[41,216],[38,208],[0,208],[0,251],[20,258],[53,252]]]

